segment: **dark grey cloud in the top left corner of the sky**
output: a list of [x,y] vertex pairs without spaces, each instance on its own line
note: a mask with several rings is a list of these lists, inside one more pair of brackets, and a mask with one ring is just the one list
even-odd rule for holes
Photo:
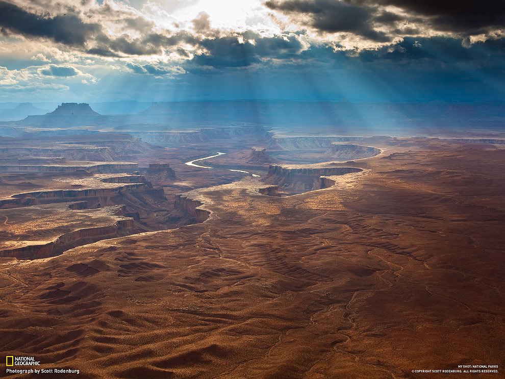
[[4,1],[0,1],[0,26],[26,37],[45,37],[80,46],[101,29],[97,24],[84,23],[74,14],[43,17]]

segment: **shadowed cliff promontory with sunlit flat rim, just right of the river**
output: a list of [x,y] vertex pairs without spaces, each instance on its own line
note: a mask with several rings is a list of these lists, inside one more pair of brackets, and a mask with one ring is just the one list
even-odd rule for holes
[[357,167],[286,167],[270,165],[264,183],[275,184],[279,190],[288,194],[313,191],[331,187],[330,182],[322,181],[321,176],[344,175],[363,171]]

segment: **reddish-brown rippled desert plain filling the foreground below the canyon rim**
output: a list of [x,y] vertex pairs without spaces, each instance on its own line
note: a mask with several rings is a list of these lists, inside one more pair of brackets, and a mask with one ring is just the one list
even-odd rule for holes
[[[502,371],[505,149],[376,147],[385,154],[347,162],[363,171],[331,188],[276,197],[258,193],[258,179],[208,186],[191,194],[211,212],[203,223],[4,259],[0,346],[80,370],[58,377]],[[175,170],[180,183],[190,169]],[[210,183],[221,171],[197,175]]]

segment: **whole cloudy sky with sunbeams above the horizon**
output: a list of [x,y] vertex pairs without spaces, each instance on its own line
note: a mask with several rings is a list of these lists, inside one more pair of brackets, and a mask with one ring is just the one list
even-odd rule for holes
[[503,0],[0,0],[0,102],[504,97]]

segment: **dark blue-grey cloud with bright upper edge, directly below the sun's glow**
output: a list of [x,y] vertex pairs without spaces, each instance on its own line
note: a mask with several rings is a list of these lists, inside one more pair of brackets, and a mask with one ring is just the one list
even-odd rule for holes
[[196,55],[193,62],[212,67],[245,67],[260,62],[262,58],[289,59],[304,47],[295,35],[261,37],[254,32],[204,39],[198,46],[207,53]]

